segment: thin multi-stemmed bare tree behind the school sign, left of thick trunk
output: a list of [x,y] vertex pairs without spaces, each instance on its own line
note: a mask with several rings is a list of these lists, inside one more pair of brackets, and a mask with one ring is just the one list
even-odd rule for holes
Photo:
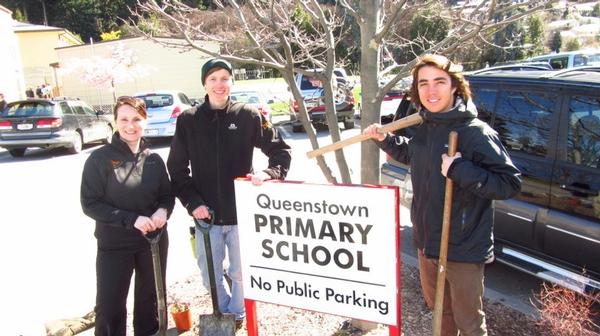
[[[245,7],[240,6],[235,0],[226,3],[215,1],[215,4],[219,8],[219,13],[226,14],[231,20],[232,27],[228,30],[237,30],[244,37],[245,43],[241,47],[240,34],[224,34],[218,27],[214,28],[215,31],[207,31],[198,22],[198,17],[205,11],[189,7],[180,1],[161,1],[160,4],[154,0],[139,2],[136,13],[139,22],[132,28],[138,34],[159,43],[165,42],[157,40],[156,36],[179,37],[187,41],[188,47],[208,55],[222,57],[237,64],[254,64],[278,70],[298,102],[299,118],[313,149],[319,148],[319,143],[300,88],[296,85],[295,74],[303,73],[318,77],[323,83],[325,92],[326,120],[331,140],[339,141],[341,136],[333,99],[337,82],[333,69],[336,59],[336,32],[341,30],[343,21],[337,15],[335,6],[321,6],[316,0],[246,1]],[[306,13],[310,18],[303,22],[303,26],[300,25],[297,17],[290,15],[297,10]],[[160,17],[163,24],[158,27],[152,25],[148,22],[148,17]],[[154,27],[154,29],[147,29],[147,27]],[[221,43],[221,52],[214,53],[205,49],[202,41],[206,40]],[[323,70],[315,72],[302,68],[301,65],[306,63]],[[342,182],[350,183],[344,152],[337,151],[335,159]],[[329,182],[337,182],[325,158],[318,158],[317,164]]]

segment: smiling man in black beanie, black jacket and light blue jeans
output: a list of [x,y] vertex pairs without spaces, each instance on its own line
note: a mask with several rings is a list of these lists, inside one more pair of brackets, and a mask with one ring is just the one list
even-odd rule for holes
[[[236,325],[241,327],[245,311],[233,181],[247,177],[254,185],[261,185],[266,180],[284,179],[290,167],[290,147],[255,107],[229,99],[233,85],[229,62],[217,58],[207,61],[201,78],[205,101],[177,118],[167,167],[173,192],[188,213],[205,221],[211,211],[214,214],[209,235],[219,310],[235,314]],[[255,147],[269,158],[268,167],[256,172],[252,167]],[[209,288],[203,239],[196,239],[196,250],[203,284]],[[231,291],[224,282],[226,255]]]

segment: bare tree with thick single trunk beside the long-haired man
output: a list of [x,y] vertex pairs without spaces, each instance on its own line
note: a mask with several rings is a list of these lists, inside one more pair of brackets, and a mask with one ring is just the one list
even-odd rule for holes
[[[356,8],[358,2],[358,8]],[[502,29],[511,22],[520,20],[534,12],[542,10],[555,1],[481,1],[476,7],[462,7],[453,10],[446,8],[437,12],[442,18],[450,20],[451,29],[447,36],[437,43],[429,43],[425,53],[450,55],[460,47],[476,39]],[[383,0],[340,0],[340,4],[351,13],[360,25],[361,32],[361,71],[362,120],[361,128],[379,122],[379,109],[385,94],[402,78],[410,75],[410,69],[417,61],[417,54],[410,62],[395,63],[382,68],[381,51],[388,46],[423,46],[422,41],[406,41],[394,36],[394,27],[408,25],[410,17],[417,10],[430,8],[438,1],[383,1]],[[383,9],[388,8],[384,13]],[[509,14],[516,13],[516,14]],[[433,42],[433,41],[429,41]],[[388,82],[380,84],[383,76],[394,74]],[[371,141],[362,143],[361,181],[377,183],[379,181],[379,150]]]

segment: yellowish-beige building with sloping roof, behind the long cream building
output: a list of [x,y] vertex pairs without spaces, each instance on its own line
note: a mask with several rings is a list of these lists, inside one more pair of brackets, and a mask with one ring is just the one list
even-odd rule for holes
[[60,94],[56,69],[52,66],[58,62],[56,48],[81,45],[81,39],[63,28],[16,21],[13,30],[21,50],[25,87],[35,90],[45,84],[53,88],[55,95]]

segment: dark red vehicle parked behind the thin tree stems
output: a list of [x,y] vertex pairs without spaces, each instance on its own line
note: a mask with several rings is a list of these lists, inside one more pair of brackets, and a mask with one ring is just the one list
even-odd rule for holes
[[[320,71],[322,70],[315,70],[315,72]],[[355,103],[354,96],[352,95],[352,86],[344,69],[336,68],[333,73],[337,83],[337,89],[334,93],[334,103],[338,122],[344,123],[344,129],[352,129],[354,128]],[[300,88],[311,122],[315,126],[327,125],[325,118],[325,93],[321,81],[313,76],[305,76],[299,73],[296,75],[296,85]],[[304,128],[296,115],[300,111],[298,102],[292,102],[292,109],[293,111],[290,114],[292,131],[301,132]]]

